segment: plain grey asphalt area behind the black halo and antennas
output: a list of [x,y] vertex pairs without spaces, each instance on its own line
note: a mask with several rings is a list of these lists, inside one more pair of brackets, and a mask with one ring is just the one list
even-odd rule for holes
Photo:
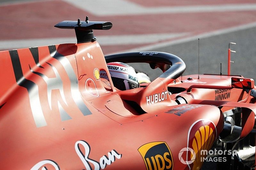
[[[224,33],[199,39],[199,73],[227,74],[228,44],[236,53],[231,53],[231,75],[242,75],[256,80],[256,27]],[[167,52],[179,56],[186,63],[184,75],[198,74],[198,40],[179,43],[162,48],[150,48],[145,51]],[[152,70],[148,64],[130,64],[135,69],[148,72],[151,79],[161,74],[161,70]]]

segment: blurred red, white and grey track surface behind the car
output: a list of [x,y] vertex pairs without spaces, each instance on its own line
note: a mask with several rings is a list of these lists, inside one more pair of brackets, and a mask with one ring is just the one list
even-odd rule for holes
[[[0,0],[0,49],[76,43],[74,30],[55,28],[63,20],[111,21],[110,30],[95,30],[105,55],[130,51],[162,51],[186,63],[184,75],[231,74],[256,79],[255,0]],[[131,64],[149,71],[148,64]]]

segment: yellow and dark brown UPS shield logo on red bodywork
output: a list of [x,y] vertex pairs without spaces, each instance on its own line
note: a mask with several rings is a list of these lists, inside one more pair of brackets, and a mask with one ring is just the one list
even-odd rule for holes
[[165,142],[151,142],[138,149],[147,170],[173,169],[172,152]]

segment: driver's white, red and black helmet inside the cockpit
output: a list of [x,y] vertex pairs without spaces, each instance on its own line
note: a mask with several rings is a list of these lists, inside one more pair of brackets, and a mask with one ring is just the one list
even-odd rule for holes
[[133,67],[120,62],[108,63],[107,66],[113,84],[119,90],[129,90],[140,87]]

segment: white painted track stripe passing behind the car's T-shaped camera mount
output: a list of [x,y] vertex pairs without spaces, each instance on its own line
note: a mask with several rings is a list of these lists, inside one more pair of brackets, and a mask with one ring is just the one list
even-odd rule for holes
[[[96,36],[96,38],[100,45],[141,45],[145,43],[156,43],[158,41],[164,41],[186,35],[188,35],[188,33],[157,33],[139,35],[108,35]],[[0,41],[0,49],[28,48],[63,43],[76,43],[76,37],[2,40]]]

